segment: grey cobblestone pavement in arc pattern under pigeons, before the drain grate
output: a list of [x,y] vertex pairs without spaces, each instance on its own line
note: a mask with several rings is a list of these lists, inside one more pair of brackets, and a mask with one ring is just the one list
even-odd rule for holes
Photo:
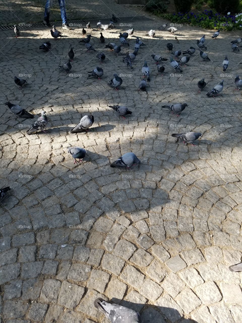
[[[106,323],[93,306],[97,296],[140,311],[147,323],[241,322],[242,274],[228,270],[242,250],[241,91],[233,91],[241,52],[229,43],[237,36],[221,32],[211,41],[212,31],[183,26],[178,44],[157,31],[161,22],[133,26],[147,45],[133,70],[93,30],[94,48],[106,54],[101,81],[86,80],[100,62],[82,50],[81,29],[58,40],[48,29],[24,30],[17,39],[2,32],[1,187],[12,188],[0,208],[2,322]],[[152,26],[150,39],[144,35]],[[118,31],[104,33],[106,44]],[[196,51],[182,76],[172,76],[169,63],[157,75],[152,52],[168,58],[168,41],[185,50],[204,33],[210,62]],[[46,40],[47,54],[38,50]],[[133,49],[135,38],[129,42]],[[70,46],[73,77],[58,70]],[[221,76],[225,54],[230,64]],[[137,91],[144,59],[152,71],[147,93]],[[107,86],[114,72],[124,75],[119,91]],[[13,81],[19,74],[29,83],[22,91]],[[197,94],[202,77],[208,84]],[[222,78],[222,96],[207,98]],[[33,120],[15,118],[7,99],[34,120],[44,109],[49,132],[26,135]],[[188,107],[177,118],[162,110],[168,102]],[[120,119],[113,104],[132,116]],[[94,131],[70,134],[89,112]],[[171,137],[189,130],[202,133],[195,147]],[[69,143],[87,150],[82,165],[73,164]],[[109,166],[128,151],[139,167]]]

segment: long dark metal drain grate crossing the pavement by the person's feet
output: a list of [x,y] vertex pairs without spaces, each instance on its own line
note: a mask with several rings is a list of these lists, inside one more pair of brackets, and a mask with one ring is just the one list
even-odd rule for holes
[[[133,21],[144,21],[144,20],[152,20],[151,18],[145,17],[145,16],[134,16],[134,17],[120,17],[117,18],[117,23],[115,25],[117,26],[119,23],[124,23],[124,22],[133,22]],[[78,24],[78,25],[83,25],[86,27],[86,24],[90,21],[91,25],[95,25],[99,21],[97,18],[90,18],[90,19],[84,19],[84,20],[68,20],[68,24]],[[108,24],[110,19],[102,19],[101,22],[102,24]],[[55,21],[55,22],[50,22],[51,26],[62,26],[62,21]],[[36,29],[36,28],[46,28],[44,23],[33,23],[33,24],[20,24],[21,26],[17,27],[19,29]],[[75,26],[75,25],[74,25]],[[13,30],[14,25],[6,25],[6,26],[0,26],[0,30],[6,31],[6,30]]]

